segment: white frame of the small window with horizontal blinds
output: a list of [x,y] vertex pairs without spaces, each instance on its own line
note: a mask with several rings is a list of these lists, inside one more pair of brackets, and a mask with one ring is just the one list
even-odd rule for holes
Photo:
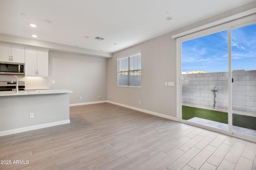
[[[131,58],[132,56],[134,56],[134,55],[137,55],[137,54],[140,54],[140,86],[131,86],[131,84],[129,83],[129,76],[130,76],[130,71],[134,71],[134,70],[130,70],[130,60],[129,60],[129,58]],[[141,88],[141,72],[142,72],[142,64],[141,64],[141,57],[142,56],[142,53],[140,52],[140,51],[138,51],[138,52],[136,52],[136,53],[132,53],[132,54],[129,54],[129,55],[126,55],[126,56],[123,56],[123,57],[118,57],[117,58],[117,86],[118,87],[128,87],[128,88]],[[119,85],[119,76],[118,76],[118,74],[120,73],[120,71],[118,71],[119,70],[119,60],[120,59],[125,59],[125,58],[128,58],[128,86],[120,86]],[[138,71],[138,70],[137,70]]]

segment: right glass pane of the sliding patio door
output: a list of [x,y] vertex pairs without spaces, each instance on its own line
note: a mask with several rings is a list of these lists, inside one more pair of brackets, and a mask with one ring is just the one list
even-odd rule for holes
[[232,131],[256,137],[256,24],[231,29]]

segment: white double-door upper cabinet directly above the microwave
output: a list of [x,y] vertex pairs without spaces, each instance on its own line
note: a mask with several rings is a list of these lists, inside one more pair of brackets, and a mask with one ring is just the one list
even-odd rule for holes
[[0,61],[25,63],[25,47],[0,44]]

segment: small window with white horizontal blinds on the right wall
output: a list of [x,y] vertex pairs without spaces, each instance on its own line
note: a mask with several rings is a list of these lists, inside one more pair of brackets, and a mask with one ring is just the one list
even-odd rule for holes
[[117,59],[117,86],[140,87],[141,53]]

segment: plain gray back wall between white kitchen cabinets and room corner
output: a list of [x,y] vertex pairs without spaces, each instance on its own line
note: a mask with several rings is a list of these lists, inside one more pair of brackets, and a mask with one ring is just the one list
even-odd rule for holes
[[106,59],[49,52],[49,87],[72,90],[70,104],[107,100],[106,70]]

